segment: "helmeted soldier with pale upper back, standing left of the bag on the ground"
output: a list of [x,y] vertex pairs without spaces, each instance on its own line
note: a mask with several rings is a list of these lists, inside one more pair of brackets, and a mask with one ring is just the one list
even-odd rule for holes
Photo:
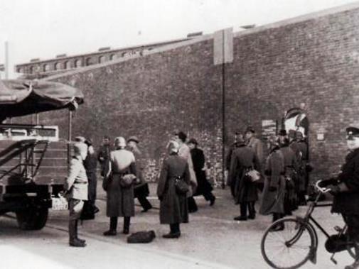
[[120,181],[124,175],[136,175],[136,165],[134,154],[125,150],[126,141],[123,137],[114,140],[116,150],[109,153],[109,168],[106,173],[109,177],[107,187],[107,211],[110,218],[109,231],[105,231],[105,236],[117,234],[117,218],[124,217],[124,234],[129,234],[129,224],[131,216],[134,216],[134,182],[122,187]]

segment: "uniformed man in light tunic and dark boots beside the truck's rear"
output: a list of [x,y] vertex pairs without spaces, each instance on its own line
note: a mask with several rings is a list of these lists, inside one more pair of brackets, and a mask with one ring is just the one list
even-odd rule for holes
[[83,160],[87,156],[87,145],[77,142],[73,146],[74,156],[70,162],[68,177],[65,181],[65,192],[69,199],[69,244],[70,246],[84,247],[85,240],[77,237],[77,222],[80,219],[84,201],[87,200],[87,176]]

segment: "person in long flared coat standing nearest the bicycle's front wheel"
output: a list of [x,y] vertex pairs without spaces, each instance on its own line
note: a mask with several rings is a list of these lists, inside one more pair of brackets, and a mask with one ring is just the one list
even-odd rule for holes
[[[264,174],[264,189],[262,204],[259,213],[263,215],[273,214],[273,221],[284,216],[284,195],[286,185],[284,179],[284,157],[279,150],[279,140],[276,136],[269,138],[270,153],[266,161]],[[282,226],[275,227],[275,231],[284,229]]]

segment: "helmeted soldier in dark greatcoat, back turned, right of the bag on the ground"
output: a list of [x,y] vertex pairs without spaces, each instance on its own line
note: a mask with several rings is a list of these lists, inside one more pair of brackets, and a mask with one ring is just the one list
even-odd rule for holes
[[171,141],[167,149],[169,156],[162,165],[157,187],[157,196],[161,201],[159,219],[161,224],[169,224],[171,229],[163,237],[178,238],[181,236],[180,224],[188,222],[188,205],[186,194],[176,192],[175,179],[179,176],[190,185],[191,175],[187,160],[178,156],[178,143]]

